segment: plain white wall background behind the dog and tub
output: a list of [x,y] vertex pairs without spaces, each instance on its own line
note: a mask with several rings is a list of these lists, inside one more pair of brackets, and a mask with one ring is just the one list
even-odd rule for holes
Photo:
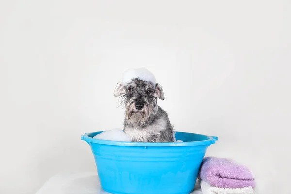
[[218,136],[207,155],[250,167],[259,194],[289,194],[290,5],[1,0],[0,193],[95,171],[81,135],[122,127],[113,90],[147,67],[177,131]]

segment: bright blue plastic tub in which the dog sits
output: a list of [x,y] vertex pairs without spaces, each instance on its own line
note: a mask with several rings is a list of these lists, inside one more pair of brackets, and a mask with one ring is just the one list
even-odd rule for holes
[[102,188],[113,194],[189,194],[206,149],[217,137],[176,132],[178,143],[120,142],[81,137],[93,152]]

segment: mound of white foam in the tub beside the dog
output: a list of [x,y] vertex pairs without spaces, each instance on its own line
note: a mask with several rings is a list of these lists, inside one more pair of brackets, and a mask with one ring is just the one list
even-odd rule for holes
[[129,137],[129,135],[125,134],[122,129],[117,128],[109,131],[103,131],[93,138],[101,140],[131,142],[131,138]]

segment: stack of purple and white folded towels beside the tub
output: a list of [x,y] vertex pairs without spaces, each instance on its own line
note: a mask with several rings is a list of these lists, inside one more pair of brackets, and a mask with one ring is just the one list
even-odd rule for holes
[[254,194],[252,172],[231,159],[204,158],[199,179],[203,194]]

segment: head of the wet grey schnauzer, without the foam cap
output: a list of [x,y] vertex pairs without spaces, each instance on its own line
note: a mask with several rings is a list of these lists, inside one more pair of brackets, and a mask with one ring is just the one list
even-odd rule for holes
[[146,121],[157,113],[157,99],[164,100],[164,93],[160,84],[134,78],[127,85],[120,81],[114,96],[121,96],[121,104],[125,104],[125,119],[133,125],[144,125]]

